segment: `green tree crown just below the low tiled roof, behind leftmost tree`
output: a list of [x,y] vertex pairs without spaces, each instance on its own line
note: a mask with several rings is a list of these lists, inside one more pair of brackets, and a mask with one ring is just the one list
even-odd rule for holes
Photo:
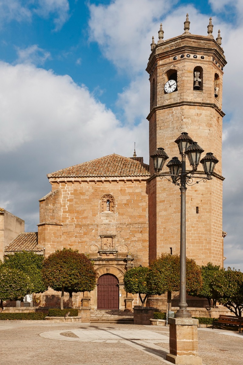
[[42,255],[29,251],[20,251],[4,257],[3,266],[23,271],[30,278],[30,292],[43,293],[47,290],[41,273],[43,260]]

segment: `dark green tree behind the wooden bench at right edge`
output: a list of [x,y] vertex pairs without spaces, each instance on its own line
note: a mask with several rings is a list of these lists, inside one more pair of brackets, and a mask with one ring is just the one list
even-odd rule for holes
[[219,303],[223,304],[236,316],[243,310],[243,273],[240,270],[221,269],[215,277],[213,288],[218,292]]

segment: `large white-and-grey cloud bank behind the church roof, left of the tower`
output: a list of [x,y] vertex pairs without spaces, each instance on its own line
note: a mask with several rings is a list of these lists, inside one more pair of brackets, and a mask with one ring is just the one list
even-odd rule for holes
[[146,121],[121,126],[67,75],[0,62],[0,79],[0,206],[27,220],[27,230],[36,230],[38,199],[51,190],[47,173],[146,145]]

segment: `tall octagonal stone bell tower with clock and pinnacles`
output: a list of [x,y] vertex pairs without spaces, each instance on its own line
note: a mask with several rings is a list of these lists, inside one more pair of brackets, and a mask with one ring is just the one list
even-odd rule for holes
[[[175,140],[182,132],[219,163],[213,179],[187,189],[187,256],[199,265],[223,265],[222,238],[222,78],[226,65],[220,31],[213,38],[189,33],[188,14],[184,33],[164,40],[162,24],[158,43],[152,39],[146,71],[150,80],[149,154],[163,147],[171,159],[179,155]],[[168,160],[169,161],[169,160]],[[187,170],[191,170],[189,163]],[[166,171],[164,166],[163,172]],[[154,175],[150,158],[149,257],[180,253],[180,189]],[[203,173],[199,167],[198,174]],[[194,181],[195,182],[195,181]]]

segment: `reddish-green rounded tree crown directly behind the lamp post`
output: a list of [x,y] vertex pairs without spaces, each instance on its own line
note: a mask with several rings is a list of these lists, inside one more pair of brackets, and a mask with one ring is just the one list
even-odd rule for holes
[[[187,292],[198,292],[202,286],[200,266],[195,260],[189,258],[186,265]],[[162,254],[154,260],[148,271],[147,285],[150,294],[178,292],[180,290],[180,256]]]

